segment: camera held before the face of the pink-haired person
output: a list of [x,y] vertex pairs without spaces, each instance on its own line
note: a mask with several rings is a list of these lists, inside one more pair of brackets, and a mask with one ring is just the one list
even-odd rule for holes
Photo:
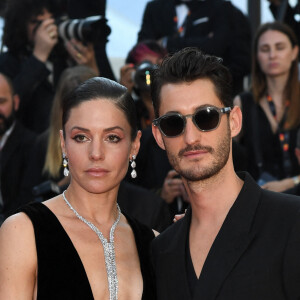
[[150,91],[152,72],[157,68],[157,65],[147,60],[142,61],[139,65],[136,66],[136,69],[132,74],[132,79],[135,88],[138,91]]

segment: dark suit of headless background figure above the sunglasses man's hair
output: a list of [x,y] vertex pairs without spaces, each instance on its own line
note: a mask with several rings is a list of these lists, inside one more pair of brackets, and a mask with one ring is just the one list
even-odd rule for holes
[[185,47],[198,47],[207,54],[222,57],[233,76],[233,93],[242,91],[243,78],[250,73],[251,61],[251,27],[247,17],[228,1],[186,2],[190,15],[186,19],[184,36],[180,36],[176,22],[179,2],[148,2],[138,41],[166,37],[166,47],[171,53]]

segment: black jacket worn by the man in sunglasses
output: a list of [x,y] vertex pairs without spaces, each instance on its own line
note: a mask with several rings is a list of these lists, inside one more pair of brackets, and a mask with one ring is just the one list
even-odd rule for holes
[[300,299],[300,197],[262,190],[244,176],[193,297],[185,260],[191,210],[154,240],[158,299]]

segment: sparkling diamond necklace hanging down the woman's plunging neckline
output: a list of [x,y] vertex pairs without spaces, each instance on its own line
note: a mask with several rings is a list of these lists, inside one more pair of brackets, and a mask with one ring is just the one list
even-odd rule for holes
[[73,211],[73,213],[76,215],[76,217],[79,220],[81,220],[86,225],[88,225],[97,234],[99,240],[101,241],[104,250],[104,259],[105,259],[108,289],[109,289],[109,300],[117,300],[118,299],[118,277],[117,277],[116,254],[115,254],[115,245],[114,245],[114,233],[121,217],[120,207],[117,203],[118,217],[110,229],[109,242],[108,242],[107,239],[103,236],[102,232],[93,223],[86,220],[75,210],[75,208],[73,208],[73,206],[67,200],[65,196],[65,192],[66,191],[64,191],[62,195],[69,208]]

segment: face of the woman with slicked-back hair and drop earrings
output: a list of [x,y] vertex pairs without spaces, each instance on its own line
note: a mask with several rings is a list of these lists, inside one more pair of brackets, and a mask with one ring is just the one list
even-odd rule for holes
[[125,177],[129,159],[137,155],[140,133],[131,140],[124,112],[113,102],[95,99],[70,111],[62,150],[69,159],[71,184],[90,193],[105,193]]

